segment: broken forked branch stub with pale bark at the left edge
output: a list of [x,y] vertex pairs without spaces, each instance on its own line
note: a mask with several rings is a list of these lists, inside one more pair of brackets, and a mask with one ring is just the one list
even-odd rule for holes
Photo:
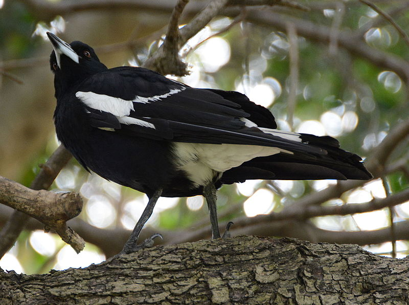
[[67,220],[81,212],[82,199],[79,194],[33,190],[0,177],[0,203],[24,212],[55,230],[77,252],[84,248],[83,239],[66,226]]

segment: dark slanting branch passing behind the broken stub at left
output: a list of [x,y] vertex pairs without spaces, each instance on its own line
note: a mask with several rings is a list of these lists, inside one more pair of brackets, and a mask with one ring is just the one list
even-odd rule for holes
[[[30,188],[33,190],[48,189],[71,157],[71,153],[60,145],[47,160],[46,164],[41,166],[42,168],[31,183]],[[20,211],[15,211],[11,215],[2,231],[0,231],[0,257],[3,257],[14,245],[29,218],[27,214]]]

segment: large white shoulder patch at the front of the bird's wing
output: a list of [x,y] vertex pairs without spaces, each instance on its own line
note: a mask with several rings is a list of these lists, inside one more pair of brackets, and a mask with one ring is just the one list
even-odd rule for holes
[[128,116],[131,110],[133,110],[132,101],[127,101],[119,97],[82,91],[78,91],[75,96],[88,107],[109,112],[117,117]]

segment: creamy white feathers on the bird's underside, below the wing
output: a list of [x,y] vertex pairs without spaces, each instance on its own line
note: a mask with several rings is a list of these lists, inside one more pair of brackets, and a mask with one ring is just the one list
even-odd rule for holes
[[174,142],[173,154],[177,167],[187,172],[197,186],[206,185],[221,172],[237,167],[256,157],[291,151],[277,147]]

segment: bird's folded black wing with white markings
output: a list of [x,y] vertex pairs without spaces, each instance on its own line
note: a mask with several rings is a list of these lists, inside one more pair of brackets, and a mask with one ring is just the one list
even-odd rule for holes
[[[91,124],[175,142],[273,146],[326,154],[299,134],[280,132],[271,113],[237,92],[191,88],[143,68],[95,74],[78,87]],[[264,129],[265,129],[264,128]]]

